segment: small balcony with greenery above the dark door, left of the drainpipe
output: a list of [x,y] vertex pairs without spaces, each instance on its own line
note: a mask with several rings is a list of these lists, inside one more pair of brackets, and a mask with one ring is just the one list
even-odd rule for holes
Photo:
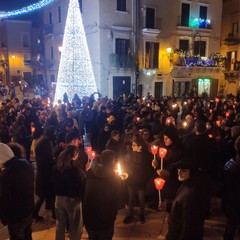
[[133,55],[110,54],[110,66],[114,68],[133,68],[135,65]]

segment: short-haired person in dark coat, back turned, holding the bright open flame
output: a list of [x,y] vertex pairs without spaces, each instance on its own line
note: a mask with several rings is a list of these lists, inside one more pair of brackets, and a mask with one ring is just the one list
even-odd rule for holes
[[86,176],[83,220],[90,240],[111,240],[118,209],[122,207],[122,183],[114,172],[116,155],[104,150]]

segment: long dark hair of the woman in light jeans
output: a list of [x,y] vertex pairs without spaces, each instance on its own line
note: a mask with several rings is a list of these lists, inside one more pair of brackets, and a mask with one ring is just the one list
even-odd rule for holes
[[56,168],[61,172],[67,168],[70,168],[72,166],[72,159],[78,152],[78,147],[68,146],[63,152],[60,153]]

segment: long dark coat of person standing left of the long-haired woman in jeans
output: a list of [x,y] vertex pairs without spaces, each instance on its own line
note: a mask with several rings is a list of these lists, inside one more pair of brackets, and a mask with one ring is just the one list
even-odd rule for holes
[[53,160],[53,146],[49,138],[41,138],[35,149],[37,174],[35,192],[38,196],[48,197],[52,194],[51,176],[55,164]]

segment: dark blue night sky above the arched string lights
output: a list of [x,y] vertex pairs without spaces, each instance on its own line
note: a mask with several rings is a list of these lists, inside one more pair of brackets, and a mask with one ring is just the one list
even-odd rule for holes
[[0,0],[0,11],[11,11],[26,7],[40,0]]

